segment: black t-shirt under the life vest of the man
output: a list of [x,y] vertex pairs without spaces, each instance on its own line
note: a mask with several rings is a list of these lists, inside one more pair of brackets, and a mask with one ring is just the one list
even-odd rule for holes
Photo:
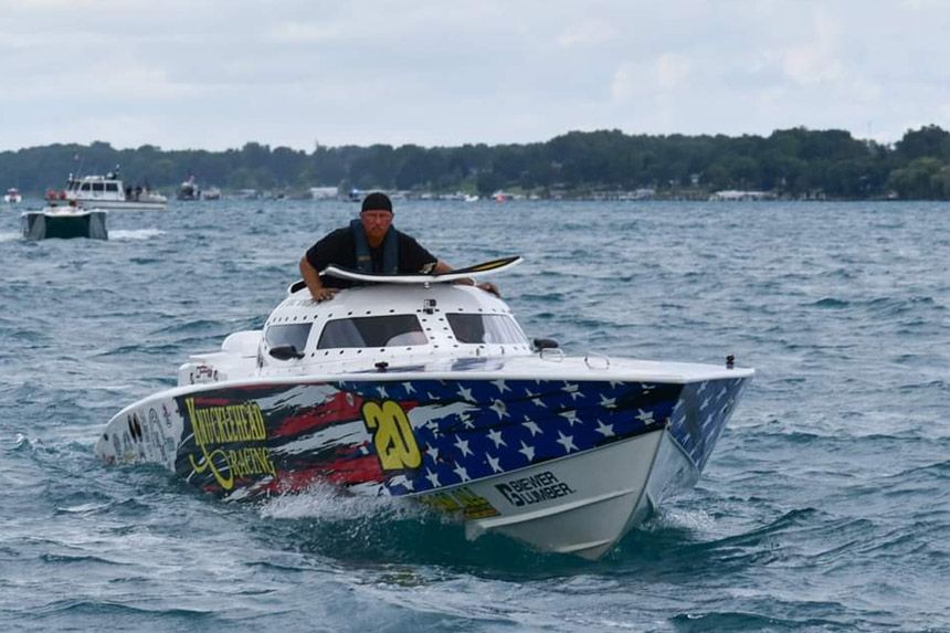
[[[392,229],[395,231],[395,229]],[[395,236],[399,244],[399,260],[397,266],[400,273],[414,274],[423,272],[430,264],[434,264],[437,260],[435,256],[423,249],[415,239],[395,231]],[[382,244],[379,247],[370,247],[372,257],[372,272],[383,272],[383,255]],[[317,271],[323,271],[330,264],[336,264],[345,268],[357,270],[356,262],[356,236],[352,229],[345,226],[337,229],[307,251],[307,262]],[[352,282],[347,279],[338,279],[328,275],[320,276],[320,283],[328,288],[347,288],[352,286]]]

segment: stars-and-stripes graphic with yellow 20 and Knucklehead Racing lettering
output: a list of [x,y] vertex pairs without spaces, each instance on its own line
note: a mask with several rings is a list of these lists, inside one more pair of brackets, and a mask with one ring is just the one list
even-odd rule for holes
[[177,397],[184,431],[176,471],[226,498],[293,493],[316,481],[425,494],[663,428],[701,470],[745,382],[390,376]]

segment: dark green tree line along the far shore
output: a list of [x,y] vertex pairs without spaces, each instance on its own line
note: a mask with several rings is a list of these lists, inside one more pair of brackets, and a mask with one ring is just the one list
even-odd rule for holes
[[908,130],[893,145],[844,130],[803,127],[768,137],[648,136],[620,130],[571,131],[526,145],[420,147],[316,146],[312,152],[247,143],[225,151],[162,150],[108,143],[50,145],[0,152],[2,186],[40,196],[68,175],[122,166],[126,184],[172,193],[188,175],[228,191],[305,194],[312,187],[464,191],[498,190],[582,198],[636,189],[658,196],[757,190],[790,198],[950,199],[950,133]]

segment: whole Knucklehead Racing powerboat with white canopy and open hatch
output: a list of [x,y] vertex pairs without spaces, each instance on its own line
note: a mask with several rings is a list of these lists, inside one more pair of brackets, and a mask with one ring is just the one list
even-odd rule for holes
[[[365,283],[315,303],[288,288],[261,330],[191,356],[178,387],[118,412],[108,464],[154,462],[224,499],[330,483],[457,514],[597,559],[706,466],[753,370],[566,356],[529,342],[466,277],[324,274]],[[456,283],[453,283],[456,282]]]

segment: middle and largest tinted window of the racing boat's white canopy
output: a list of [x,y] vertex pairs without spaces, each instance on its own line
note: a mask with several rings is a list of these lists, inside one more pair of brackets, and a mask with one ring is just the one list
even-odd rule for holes
[[397,347],[428,342],[415,315],[387,315],[327,321],[317,349]]

